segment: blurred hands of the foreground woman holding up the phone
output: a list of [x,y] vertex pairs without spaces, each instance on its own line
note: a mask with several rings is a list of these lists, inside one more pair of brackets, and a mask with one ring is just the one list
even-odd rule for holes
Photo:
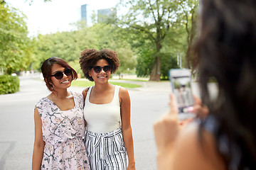
[[[209,111],[206,106],[202,106],[201,99],[194,97],[195,105],[191,107],[190,112],[195,113],[198,117],[206,118]],[[176,141],[182,136],[180,132],[192,119],[178,121],[178,106],[174,94],[170,95],[169,111],[162,115],[154,123],[154,134],[156,137],[157,164],[158,169],[172,169],[175,162],[174,152],[177,148]],[[181,135],[179,135],[181,133]],[[184,153],[184,152],[183,152]],[[179,159],[180,160],[180,159]],[[182,163],[183,164],[183,163]]]

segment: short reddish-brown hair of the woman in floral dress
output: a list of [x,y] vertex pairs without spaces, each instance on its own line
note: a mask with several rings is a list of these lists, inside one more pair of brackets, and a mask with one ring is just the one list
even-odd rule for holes
[[50,91],[53,91],[53,81],[51,81],[51,68],[53,64],[59,64],[62,67],[69,68],[72,70],[72,80],[78,78],[78,74],[75,72],[75,69],[70,67],[70,65],[64,60],[58,57],[50,57],[45,60],[41,66],[41,72],[43,74],[44,81],[46,82],[46,86]]

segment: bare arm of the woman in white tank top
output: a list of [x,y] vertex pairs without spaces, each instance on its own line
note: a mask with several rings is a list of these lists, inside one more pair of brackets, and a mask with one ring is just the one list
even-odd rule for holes
[[134,145],[132,139],[132,127],[130,123],[131,103],[128,91],[120,88],[119,96],[121,98],[121,120],[122,120],[122,133],[124,137],[124,145],[127,149],[129,164],[127,169],[135,169],[134,160]]

